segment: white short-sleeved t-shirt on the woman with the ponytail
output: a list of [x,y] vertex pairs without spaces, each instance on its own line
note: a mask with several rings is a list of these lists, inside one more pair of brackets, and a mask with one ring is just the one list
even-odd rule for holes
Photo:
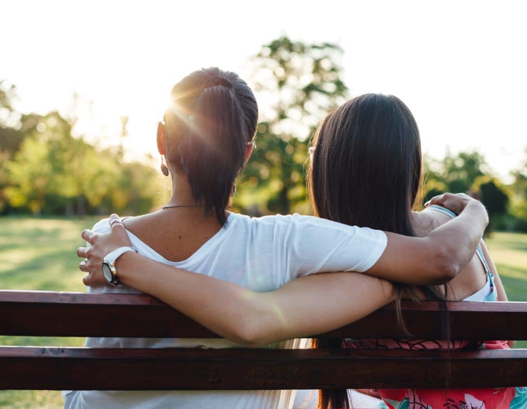
[[[108,219],[93,231],[108,233]],[[230,213],[227,223],[187,260],[171,262],[128,232],[140,254],[193,272],[221,278],[253,291],[271,291],[294,278],[318,272],[357,271],[372,267],[386,247],[384,232],[348,226],[312,216],[251,218]],[[129,287],[89,287],[95,293],[138,293]],[[197,306],[198,307],[198,306]],[[239,345],[223,339],[86,338],[89,347],[206,347]],[[299,348],[300,340],[271,348]],[[294,401],[291,391],[66,391],[65,407],[282,408]]]

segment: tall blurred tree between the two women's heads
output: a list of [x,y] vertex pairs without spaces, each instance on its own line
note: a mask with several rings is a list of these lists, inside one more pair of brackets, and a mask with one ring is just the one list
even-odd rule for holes
[[264,113],[258,148],[239,181],[258,192],[243,192],[238,206],[250,211],[263,201],[264,211],[306,211],[307,138],[324,115],[344,101],[341,54],[336,44],[306,44],[283,36],[262,46],[255,56],[255,90],[260,99],[272,101],[271,112]]

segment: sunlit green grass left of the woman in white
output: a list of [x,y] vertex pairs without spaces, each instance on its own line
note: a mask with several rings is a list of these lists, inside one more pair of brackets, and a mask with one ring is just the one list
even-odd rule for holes
[[[95,218],[0,218],[0,288],[85,291],[75,248]],[[0,336],[1,345],[82,346],[84,338]],[[0,391],[2,408],[59,408],[58,391]]]

